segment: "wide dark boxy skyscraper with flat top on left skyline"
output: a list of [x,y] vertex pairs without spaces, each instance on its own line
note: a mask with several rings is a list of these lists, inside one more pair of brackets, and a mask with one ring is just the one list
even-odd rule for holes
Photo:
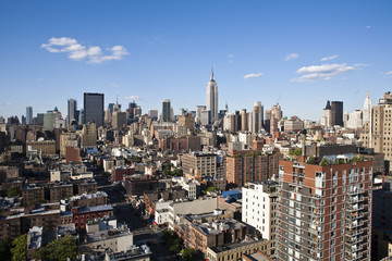
[[84,122],[94,122],[97,127],[103,125],[103,94],[84,94]]

